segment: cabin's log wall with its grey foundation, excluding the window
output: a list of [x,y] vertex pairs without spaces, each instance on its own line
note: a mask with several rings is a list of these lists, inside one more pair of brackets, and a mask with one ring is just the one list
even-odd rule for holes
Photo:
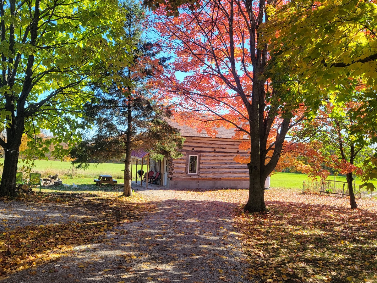
[[[183,156],[169,160],[169,188],[249,188],[247,165],[234,161],[237,155],[250,157],[248,151],[239,150],[242,140],[186,136],[185,139],[181,150]],[[197,174],[188,174],[189,155],[198,156]]]

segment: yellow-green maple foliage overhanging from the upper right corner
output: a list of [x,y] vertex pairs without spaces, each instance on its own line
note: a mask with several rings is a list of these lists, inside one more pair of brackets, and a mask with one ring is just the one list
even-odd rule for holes
[[287,2],[271,6],[262,29],[305,89],[342,102],[355,80],[375,90],[376,11],[374,0]]

